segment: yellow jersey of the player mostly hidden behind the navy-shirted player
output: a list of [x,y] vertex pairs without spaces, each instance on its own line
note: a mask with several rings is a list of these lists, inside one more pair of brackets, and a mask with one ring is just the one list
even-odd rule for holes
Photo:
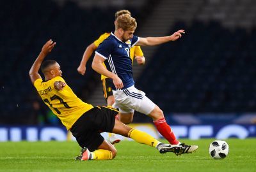
[[[106,38],[108,38],[109,35],[110,35],[109,32],[108,33],[106,32],[106,33],[100,35],[100,37],[96,41],[93,42],[94,45],[96,47],[99,47],[100,43],[102,43]],[[134,57],[136,57],[136,56],[143,56],[143,52],[142,52],[140,46],[134,46],[134,47],[131,47],[131,49],[130,49],[130,57],[132,59],[132,63],[133,63]],[[103,65],[105,66],[105,64],[103,64]],[[105,68],[106,68],[106,66],[105,66]],[[103,80],[104,78],[108,78],[108,77],[101,75],[101,80]]]

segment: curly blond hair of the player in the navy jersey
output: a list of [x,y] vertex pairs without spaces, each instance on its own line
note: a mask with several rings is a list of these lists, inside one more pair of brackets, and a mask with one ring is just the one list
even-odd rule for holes
[[137,22],[135,18],[131,17],[129,14],[120,15],[116,18],[116,30],[122,28],[124,31],[132,31],[137,27]]

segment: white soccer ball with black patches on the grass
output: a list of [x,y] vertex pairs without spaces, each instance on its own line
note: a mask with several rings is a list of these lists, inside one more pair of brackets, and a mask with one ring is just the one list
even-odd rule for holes
[[215,140],[209,146],[209,154],[214,159],[224,159],[228,155],[228,143],[223,140]]

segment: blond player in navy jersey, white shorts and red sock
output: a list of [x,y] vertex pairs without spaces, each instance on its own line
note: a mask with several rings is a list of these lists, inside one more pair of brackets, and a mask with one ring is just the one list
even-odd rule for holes
[[[160,45],[181,38],[185,32],[184,30],[179,30],[170,36],[140,38],[134,36],[136,27],[136,20],[130,15],[125,14],[118,17],[116,19],[115,32],[112,32],[97,48],[92,68],[101,75],[113,79],[114,107],[119,109],[119,119],[122,122],[125,124],[131,123],[134,110],[144,113],[153,119],[159,133],[171,144],[184,147],[183,153],[194,152],[198,146],[180,143],[170,125],[166,123],[163,111],[148,99],[144,92],[134,87],[132,61],[129,57],[130,48],[134,45]],[[106,68],[102,65],[103,62],[105,62]]]

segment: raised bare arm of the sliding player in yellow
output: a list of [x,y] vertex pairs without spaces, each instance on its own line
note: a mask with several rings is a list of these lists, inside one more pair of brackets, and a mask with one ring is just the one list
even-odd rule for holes
[[52,39],[47,41],[45,43],[45,45],[43,46],[40,54],[36,58],[34,64],[31,66],[31,68],[29,70],[29,77],[33,84],[34,84],[35,80],[37,80],[38,78],[41,78],[38,71],[40,69],[42,62],[44,61],[44,58],[46,57],[47,54],[49,54],[49,52],[52,51],[52,48],[54,47],[54,45],[56,45],[56,42],[53,42]]

